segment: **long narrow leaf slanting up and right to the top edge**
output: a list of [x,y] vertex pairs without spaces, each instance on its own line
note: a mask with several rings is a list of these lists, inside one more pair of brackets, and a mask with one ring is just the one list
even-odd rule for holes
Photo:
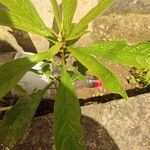
[[86,26],[93,21],[96,17],[101,15],[107,8],[114,2],[114,0],[101,0],[98,5],[91,9],[86,16],[84,16],[80,22],[76,25],[74,30],[69,34],[68,40],[76,39],[78,34],[86,29]]

